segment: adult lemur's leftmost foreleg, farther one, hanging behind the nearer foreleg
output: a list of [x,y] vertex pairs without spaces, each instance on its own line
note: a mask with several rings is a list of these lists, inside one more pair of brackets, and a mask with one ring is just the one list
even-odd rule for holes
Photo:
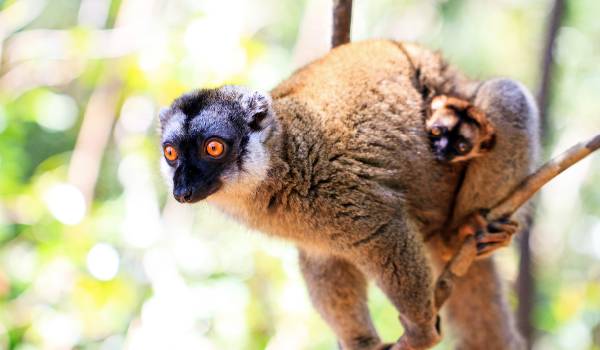
[[367,308],[364,275],[346,260],[300,251],[311,300],[344,350],[377,349],[381,341]]

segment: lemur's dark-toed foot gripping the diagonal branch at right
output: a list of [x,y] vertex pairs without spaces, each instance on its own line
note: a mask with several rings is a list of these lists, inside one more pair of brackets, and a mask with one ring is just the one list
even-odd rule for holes
[[489,220],[485,211],[471,215],[459,229],[459,235],[474,235],[477,243],[477,257],[485,258],[495,250],[510,244],[512,236],[519,230],[519,223],[510,218]]

